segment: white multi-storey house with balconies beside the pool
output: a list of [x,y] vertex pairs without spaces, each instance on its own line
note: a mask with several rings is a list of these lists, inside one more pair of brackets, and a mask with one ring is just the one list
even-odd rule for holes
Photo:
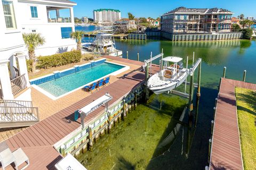
[[73,6],[68,0],[1,0],[0,3],[0,98],[31,101],[22,33],[41,33],[45,43],[36,56],[76,48],[70,38],[75,30]]

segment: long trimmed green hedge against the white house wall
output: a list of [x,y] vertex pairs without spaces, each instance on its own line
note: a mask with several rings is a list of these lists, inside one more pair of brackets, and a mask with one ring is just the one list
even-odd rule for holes
[[[48,69],[50,67],[57,67],[60,65],[66,65],[70,63],[77,63],[81,61],[81,58],[82,55],[79,50],[49,56],[40,56],[37,57],[36,67],[37,69]],[[31,71],[31,64],[32,61],[27,60],[28,71]]]

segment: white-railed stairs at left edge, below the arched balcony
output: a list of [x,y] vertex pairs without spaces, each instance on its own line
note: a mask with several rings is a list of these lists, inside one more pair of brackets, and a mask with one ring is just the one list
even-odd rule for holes
[[32,101],[0,100],[0,128],[30,126],[39,121]]

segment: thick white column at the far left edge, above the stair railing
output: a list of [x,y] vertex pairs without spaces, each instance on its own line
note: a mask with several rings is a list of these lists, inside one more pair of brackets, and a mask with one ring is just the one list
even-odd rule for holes
[[12,86],[8,69],[9,60],[0,60],[0,82],[2,87],[3,99],[13,100]]

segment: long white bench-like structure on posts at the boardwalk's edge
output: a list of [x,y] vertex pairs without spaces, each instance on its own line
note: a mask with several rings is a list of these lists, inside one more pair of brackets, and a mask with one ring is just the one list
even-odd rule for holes
[[75,118],[74,120],[78,120],[78,115],[81,117],[81,124],[82,124],[82,129],[84,129],[84,118],[95,111],[95,109],[99,108],[100,106],[105,104],[106,107],[106,112],[108,113],[108,103],[113,97],[110,96],[108,93],[106,93],[104,96],[92,101],[89,105],[86,105],[85,107],[78,109],[75,112]]

